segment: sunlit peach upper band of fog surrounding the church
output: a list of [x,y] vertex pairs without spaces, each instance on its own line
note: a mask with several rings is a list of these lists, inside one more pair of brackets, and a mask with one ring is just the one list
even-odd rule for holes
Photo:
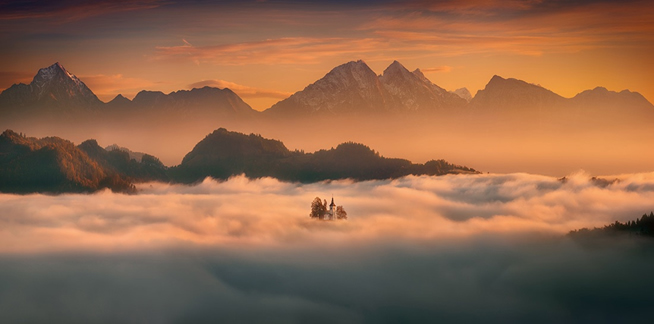
[[[409,176],[300,185],[271,178],[148,183],[138,195],[2,195],[0,251],[133,250],[177,244],[257,246],[444,240],[489,233],[564,234],[654,209],[654,173],[601,186],[585,174]],[[316,222],[319,196],[348,221]]]

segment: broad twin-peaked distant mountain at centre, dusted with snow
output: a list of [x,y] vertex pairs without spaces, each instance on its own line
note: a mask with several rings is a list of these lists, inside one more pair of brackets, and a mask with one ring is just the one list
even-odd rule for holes
[[430,112],[466,105],[465,100],[409,72],[394,61],[381,76],[362,61],[335,67],[323,78],[264,111],[270,116]]

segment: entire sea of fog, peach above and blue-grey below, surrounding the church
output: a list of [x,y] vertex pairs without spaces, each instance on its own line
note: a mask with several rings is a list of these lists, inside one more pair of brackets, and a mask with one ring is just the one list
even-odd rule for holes
[[[0,322],[642,322],[654,243],[565,236],[654,210],[654,173],[617,177],[2,194]],[[349,219],[310,219],[315,197]]]

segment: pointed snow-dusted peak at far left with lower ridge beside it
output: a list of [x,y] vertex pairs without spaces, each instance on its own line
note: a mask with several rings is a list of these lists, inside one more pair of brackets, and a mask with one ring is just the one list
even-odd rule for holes
[[249,117],[258,114],[230,89],[204,87],[164,94],[139,92],[134,100],[117,95],[103,103],[84,82],[55,63],[40,69],[30,84],[14,84],[0,93],[0,117],[40,118],[43,116],[95,118],[115,116],[160,117],[206,120],[220,117]]

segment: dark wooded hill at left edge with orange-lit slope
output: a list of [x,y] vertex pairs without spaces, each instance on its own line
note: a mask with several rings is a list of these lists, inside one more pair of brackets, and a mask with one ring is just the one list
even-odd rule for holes
[[126,152],[105,151],[94,140],[75,146],[59,137],[37,139],[11,130],[0,135],[2,192],[92,192],[102,188],[133,192],[133,181],[165,179],[165,167],[156,158],[136,162]]

